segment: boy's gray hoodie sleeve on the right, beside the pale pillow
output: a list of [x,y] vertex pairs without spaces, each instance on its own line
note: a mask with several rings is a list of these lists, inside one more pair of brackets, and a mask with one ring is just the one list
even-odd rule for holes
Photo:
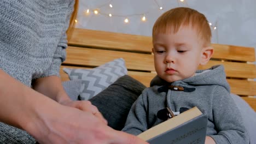
[[249,135],[230,93],[217,87],[213,97],[213,119],[218,131],[210,135],[216,143],[249,143]]

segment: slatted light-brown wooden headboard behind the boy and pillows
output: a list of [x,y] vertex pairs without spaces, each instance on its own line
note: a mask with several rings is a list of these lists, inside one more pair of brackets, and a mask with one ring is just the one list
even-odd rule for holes
[[[256,111],[256,66],[253,47],[212,44],[214,55],[207,65],[223,64],[231,93],[240,95]],[[62,81],[69,80],[63,67],[94,68],[124,58],[128,74],[145,86],[156,75],[152,37],[75,28],[68,43],[67,59],[61,66]]]

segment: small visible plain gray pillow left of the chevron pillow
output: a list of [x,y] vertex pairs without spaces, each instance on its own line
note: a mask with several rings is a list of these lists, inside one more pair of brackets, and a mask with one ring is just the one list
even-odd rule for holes
[[62,86],[72,100],[77,100],[81,93],[82,80],[71,80],[62,82]]

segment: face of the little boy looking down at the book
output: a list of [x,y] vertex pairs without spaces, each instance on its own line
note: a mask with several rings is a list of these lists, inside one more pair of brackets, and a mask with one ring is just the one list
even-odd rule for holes
[[156,73],[167,82],[193,76],[201,64],[202,44],[191,27],[181,26],[177,33],[155,34],[153,46]]

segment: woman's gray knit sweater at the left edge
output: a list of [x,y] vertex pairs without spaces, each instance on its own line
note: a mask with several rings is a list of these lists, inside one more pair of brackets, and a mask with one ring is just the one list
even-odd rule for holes
[[[73,0],[1,0],[0,69],[27,86],[39,77],[58,76],[73,5]],[[25,131],[0,123],[0,143],[35,142]]]

